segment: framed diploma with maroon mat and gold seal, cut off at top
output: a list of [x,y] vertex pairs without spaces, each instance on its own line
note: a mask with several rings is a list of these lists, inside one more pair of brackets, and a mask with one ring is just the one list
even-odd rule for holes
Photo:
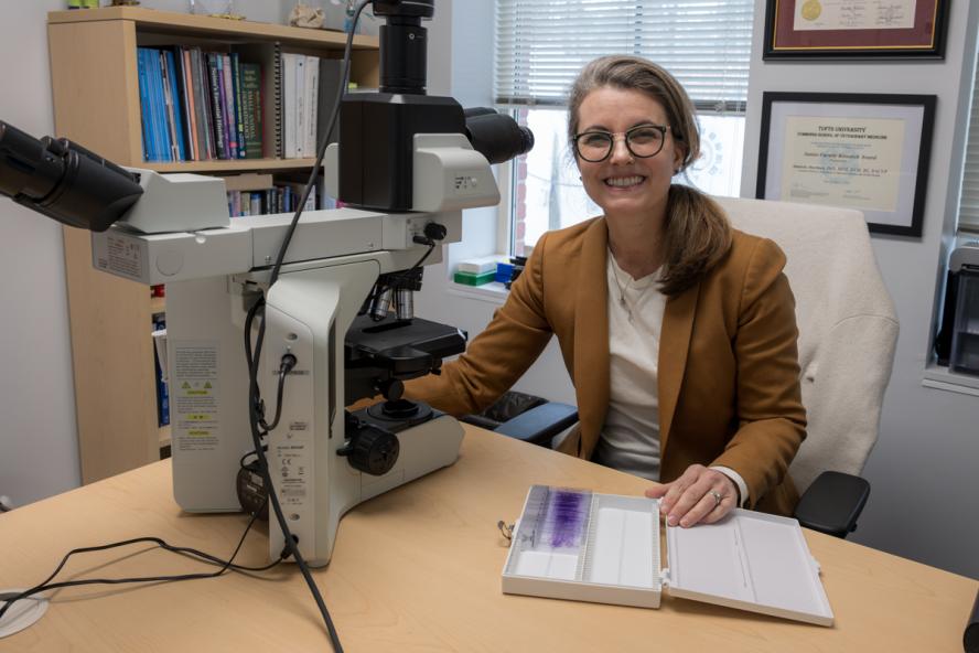
[[764,58],[943,58],[951,0],[767,0]]

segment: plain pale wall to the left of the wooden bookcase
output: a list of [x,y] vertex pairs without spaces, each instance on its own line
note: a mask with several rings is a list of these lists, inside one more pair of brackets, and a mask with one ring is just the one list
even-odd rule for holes
[[[53,132],[46,14],[60,0],[0,4],[0,120]],[[80,482],[57,223],[0,199],[0,494],[23,505]]]

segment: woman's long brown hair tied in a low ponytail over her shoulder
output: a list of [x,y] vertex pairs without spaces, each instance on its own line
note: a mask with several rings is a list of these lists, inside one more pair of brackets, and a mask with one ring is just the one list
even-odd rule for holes
[[[684,151],[677,173],[700,157],[696,109],[673,75],[638,56],[611,55],[594,60],[578,75],[568,101],[568,138],[578,133],[579,110],[592,90],[610,86],[638,90],[666,110],[670,133]],[[682,184],[669,189],[664,250],[666,261],[659,290],[676,296],[697,283],[731,247],[731,225],[717,202]]]

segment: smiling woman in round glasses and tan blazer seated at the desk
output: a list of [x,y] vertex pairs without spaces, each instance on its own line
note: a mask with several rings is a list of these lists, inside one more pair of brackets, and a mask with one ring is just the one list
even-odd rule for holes
[[541,236],[469,351],[406,395],[478,413],[557,335],[580,417],[562,451],[664,483],[647,495],[671,524],[738,505],[790,513],[806,418],[784,255],[673,183],[700,137],[664,68],[601,57],[568,104],[575,163],[603,215]]

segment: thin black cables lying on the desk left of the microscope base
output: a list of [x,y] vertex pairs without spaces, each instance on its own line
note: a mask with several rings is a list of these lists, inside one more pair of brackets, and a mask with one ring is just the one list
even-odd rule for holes
[[[230,569],[233,571],[267,571],[267,570],[271,569],[272,567],[276,567],[277,565],[279,565],[283,559],[286,559],[286,556],[280,556],[280,558],[278,560],[270,563],[268,565],[265,565],[262,567],[248,567],[245,565],[235,565],[235,563],[234,563],[235,558],[238,557],[238,553],[241,550],[241,546],[245,544],[245,538],[248,536],[248,532],[251,531],[251,526],[255,524],[256,518],[257,518],[257,514],[251,515],[251,520],[249,520],[248,525],[245,527],[245,532],[241,534],[241,537],[238,539],[238,545],[235,547],[234,553],[232,553],[232,557],[228,558],[227,560],[218,558],[217,556],[213,556],[208,553],[197,550],[195,548],[190,548],[190,547],[185,547],[185,546],[173,546],[172,544],[168,543],[164,539],[161,539],[160,537],[135,537],[132,539],[125,539],[122,542],[114,542],[111,544],[103,544],[99,546],[86,546],[86,547],[82,547],[82,548],[72,549],[71,552],[68,552],[67,555],[65,555],[64,558],[62,558],[61,564],[54,569],[54,571],[47,578],[45,578],[43,581],[35,585],[34,587],[20,592],[19,595],[14,596],[13,598],[6,599],[4,600],[6,604],[2,608],[0,608],[0,619],[3,618],[3,615],[7,613],[7,611],[10,609],[10,607],[15,601],[20,601],[21,599],[29,598],[29,597],[36,595],[39,592],[42,592],[42,591],[46,591],[50,589],[58,589],[62,587],[76,587],[76,586],[80,586],[80,585],[123,585],[123,584],[130,584],[130,582],[177,582],[181,580],[196,580],[196,579],[201,579],[201,578],[216,578],[218,576],[222,576],[228,569]],[[196,559],[197,561],[205,563],[207,565],[219,566],[220,569],[218,569],[217,571],[212,571],[212,572],[207,572],[207,574],[204,574],[204,572],[179,574],[179,575],[172,575],[172,576],[144,576],[144,577],[138,577],[138,578],[86,578],[86,579],[82,579],[82,580],[65,580],[62,582],[51,582],[61,572],[61,570],[67,564],[68,559],[71,559],[71,557],[74,556],[75,554],[85,554],[85,553],[93,553],[93,552],[99,552],[99,550],[108,550],[110,548],[118,548],[118,547],[122,547],[122,546],[129,546],[132,544],[144,543],[144,542],[155,544],[158,547],[160,547],[164,550],[168,550],[168,552],[181,555],[181,556],[190,557],[192,559]],[[283,554],[284,554],[284,552],[283,552]]]

